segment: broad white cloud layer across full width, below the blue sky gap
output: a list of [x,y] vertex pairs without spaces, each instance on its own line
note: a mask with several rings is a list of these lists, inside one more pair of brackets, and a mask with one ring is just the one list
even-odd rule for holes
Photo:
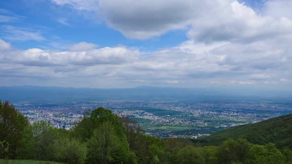
[[[5,41],[0,45],[2,44],[10,45]],[[19,82],[25,79],[41,82],[58,79],[58,81],[70,81],[72,86],[130,87],[151,83],[176,86],[193,86],[196,83],[198,86],[230,82],[239,85],[266,83],[261,80],[271,80],[268,83],[273,84],[282,77],[288,77],[292,68],[291,56],[286,51],[274,54],[279,47],[270,48],[258,44],[248,46],[228,42],[207,44],[197,43],[194,40],[146,55],[140,50],[124,46],[102,48],[89,46],[82,51],[39,48],[21,50],[9,47],[0,54],[0,65],[1,68],[5,68],[1,70],[2,74],[7,73],[10,78],[18,78]],[[285,61],[283,57],[286,58]],[[266,66],[262,65],[263,60],[267,61]],[[279,65],[270,65],[272,61]],[[267,69],[262,70],[262,67]],[[287,71],[283,71],[284,69]],[[103,83],[101,81],[98,81],[101,82],[98,84],[93,83],[97,79],[102,79]]]

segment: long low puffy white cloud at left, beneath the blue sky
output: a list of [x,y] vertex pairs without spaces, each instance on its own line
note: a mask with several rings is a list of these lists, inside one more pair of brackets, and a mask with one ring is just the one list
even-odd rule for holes
[[3,61],[23,64],[25,66],[67,66],[99,64],[121,64],[136,60],[139,51],[126,47],[104,47],[88,51],[50,51],[39,48],[17,50],[5,54]]

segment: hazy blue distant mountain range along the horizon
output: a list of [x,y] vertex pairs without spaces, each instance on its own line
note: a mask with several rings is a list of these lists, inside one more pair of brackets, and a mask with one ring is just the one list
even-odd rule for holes
[[72,88],[54,86],[0,86],[0,99],[11,102],[90,102],[100,100],[180,100],[192,102],[272,101],[289,103],[291,92],[232,90],[228,88]]

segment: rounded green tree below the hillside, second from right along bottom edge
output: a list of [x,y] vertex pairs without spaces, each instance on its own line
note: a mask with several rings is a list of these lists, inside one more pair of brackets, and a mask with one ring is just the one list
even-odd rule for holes
[[250,147],[246,139],[228,139],[218,148],[218,161],[221,164],[244,163]]

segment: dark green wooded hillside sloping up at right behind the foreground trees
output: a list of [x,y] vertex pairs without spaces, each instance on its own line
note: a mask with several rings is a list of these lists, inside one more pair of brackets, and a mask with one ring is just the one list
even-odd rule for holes
[[259,123],[244,124],[227,128],[210,136],[194,140],[203,145],[219,145],[228,138],[244,138],[265,145],[275,143],[279,148],[292,148],[292,114],[268,119]]

